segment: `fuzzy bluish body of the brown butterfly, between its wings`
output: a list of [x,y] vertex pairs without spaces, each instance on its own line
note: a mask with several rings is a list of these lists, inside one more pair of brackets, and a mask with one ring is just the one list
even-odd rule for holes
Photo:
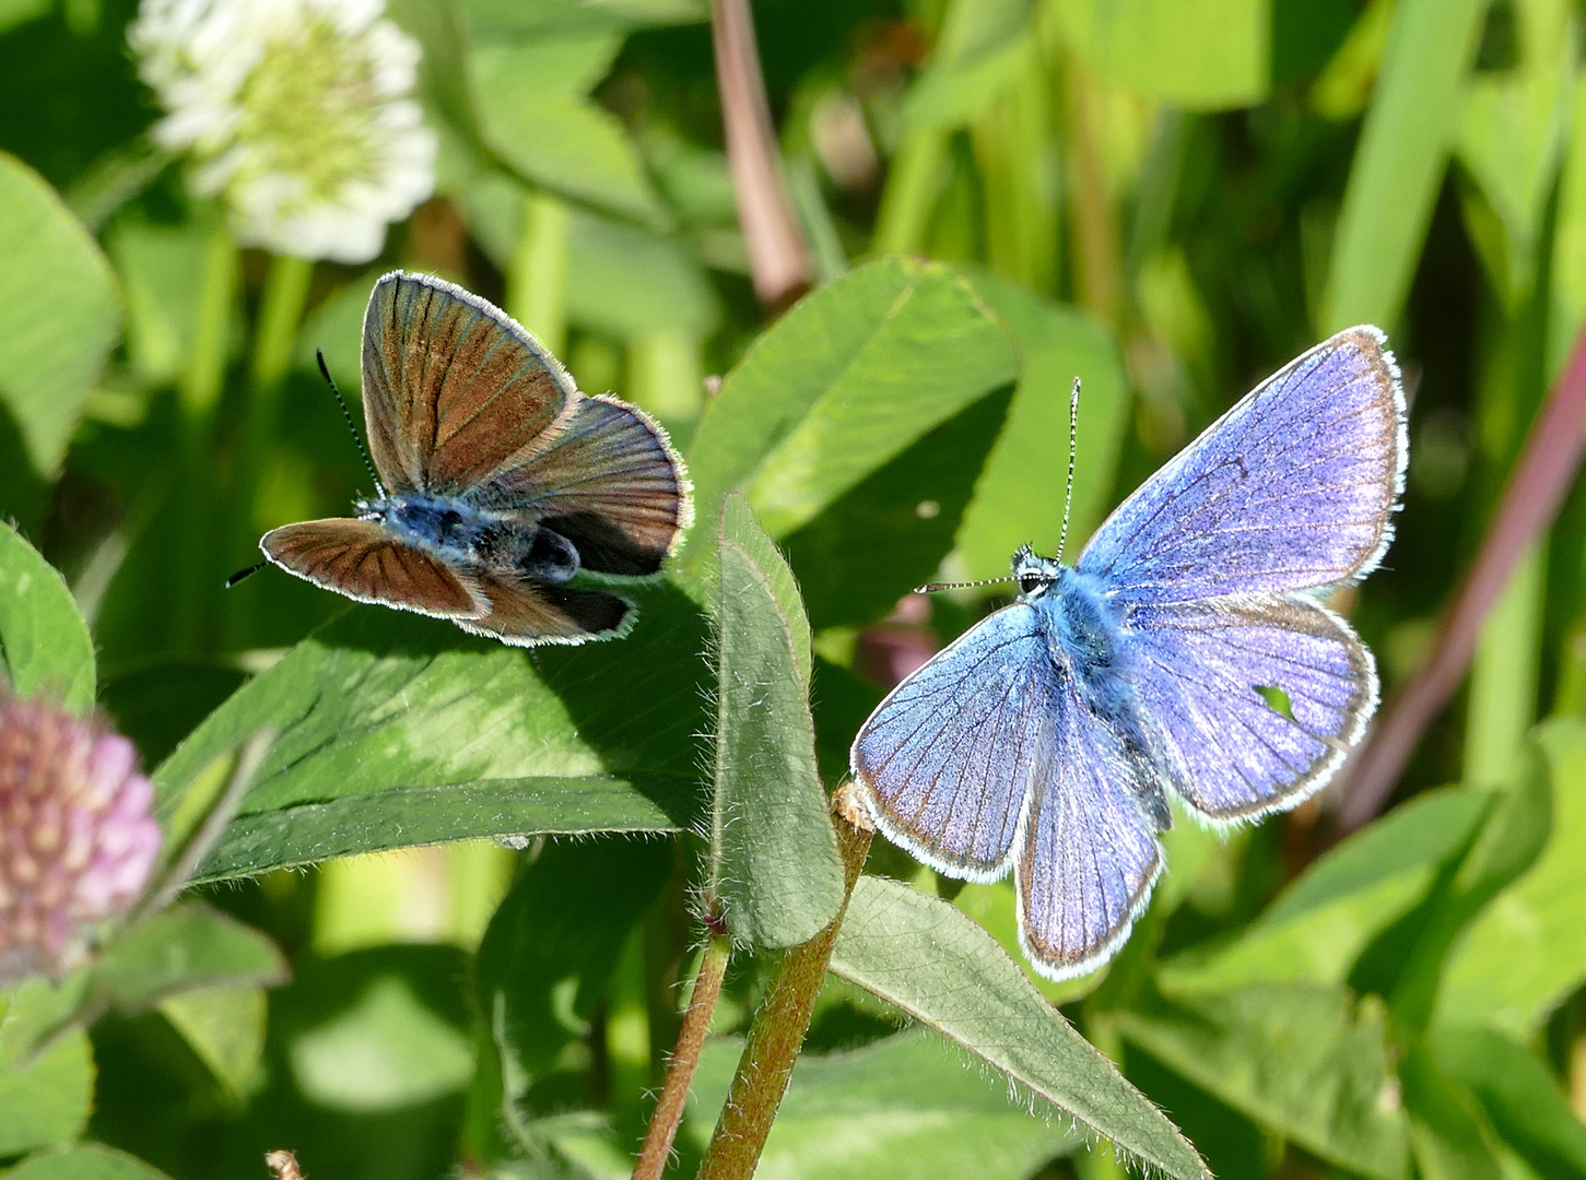
[[379,522],[403,544],[463,569],[482,568],[554,585],[579,571],[573,542],[520,512],[425,493],[360,500],[357,512],[363,520]]

